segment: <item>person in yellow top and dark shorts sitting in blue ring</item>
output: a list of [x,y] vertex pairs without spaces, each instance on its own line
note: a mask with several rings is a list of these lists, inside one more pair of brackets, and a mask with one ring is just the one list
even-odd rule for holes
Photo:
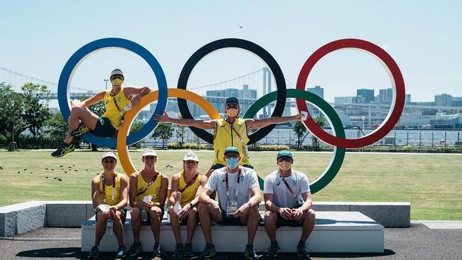
[[[61,157],[75,150],[72,137],[81,136],[91,131],[101,137],[114,136],[124,121],[124,114],[131,107],[139,104],[139,99],[151,92],[149,87],[122,87],[124,73],[122,70],[112,70],[110,75],[112,88],[102,90],[83,102],[71,101],[68,119],[68,135],[60,147],[51,153],[53,157]],[[102,117],[91,112],[87,107],[104,100],[105,112]]]

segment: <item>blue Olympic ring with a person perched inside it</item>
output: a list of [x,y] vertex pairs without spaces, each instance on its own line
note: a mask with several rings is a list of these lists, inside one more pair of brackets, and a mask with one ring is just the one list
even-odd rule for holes
[[[163,74],[162,67],[156,58],[154,58],[154,55],[152,55],[149,50],[146,50],[143,46],[138,43],[134,43],[131,40],[125,40],[122,38],[102,38],[100,40],[94,40],[91,43],[87,43],[82,48],[78,49],[63,67],[63,71],[61,72],[58,82],[58,104],[64,119],[67,121],[70,115],[68,93],[70,89],[70,81],[72,80],[72,75],[75,72],[75,69],[78,67],[81,60],[102,48],[124,48],[131,50],[146,60],[146,63],[149,64],[154,72],[154,75],[156,75],[157,85],[159,86],[159,100],[154,114],[162,114],[167,105],[167,81]],[[146,136],[151,134],[151,131],[154,131],[157,124],[158,123],[154,120],[154,117],[151,117],[151,119],[149,119],[149,121],[141,129],[139,129],[139,131],[127,136],[127,144],[129,145],[141,141],[141,139],[144,139]],[[91,133],[82,135],[82,138],[89,143],[96,144],[97,146],[109,148],[117,147],[117,139],[115,138],[103,138]]]

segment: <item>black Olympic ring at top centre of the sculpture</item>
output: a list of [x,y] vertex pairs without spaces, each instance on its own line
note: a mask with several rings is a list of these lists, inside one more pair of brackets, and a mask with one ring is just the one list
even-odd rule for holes
[[[251,53],[254,53],[259,58],[261,58],[264,63],[267,63],[270,70],[274,75],[274,80],[276,81],[276,89],[277,89],[277,99],[276,99],[276,107],[274,107],[273,114],[271,117],[281,117],[282,113],[284,112],[284,107],[286,106],[286,82],[284,78],[284,74],[282,73],[281,67],[276,62],[271,54],[264,50],[264,48],[260,47],[259,45],[252,43],[249,40],[242,40],[237,38],[226,38],[215,40],[211,43],[204,45],[199,50],[196,50],[193,55],[188,59],[188,61],[183,66],[183,70],[181,70],[180,77],[178,78],[178,89],[186,90],[186,86],[188,85],[188,79],[191,71],[194,69],[195,65],[198,64],[202,58],[206,55],[213,53],[215,50],[220,50],[222,48],[241,48],[244,50],[248,50]],[[188,108],[188,103],[186,99],[178,98],[178,109],[180,109],[181,116],[183,119],[193,119],[193,115],[190,113]],[[249,142],[248,144],[255,143],[260,139],[267,136],[269,132],[274,129],[274,124],[266,126],[258,131],[254,132],[253,134],[249,135]],[[210,134],[208,131],[203,129],[198,129],[193,126],[190,126],[190,129],[208,143],[213,143],[213,134]]]

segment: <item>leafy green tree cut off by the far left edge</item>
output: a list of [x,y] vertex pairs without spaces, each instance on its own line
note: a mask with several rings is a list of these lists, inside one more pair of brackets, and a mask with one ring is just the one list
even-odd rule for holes
[[29,126],[25,119],[24,95],[14,92],[11,85],[0,83],[0,133],[10,141],[10,149],[15,150],[14,137]]

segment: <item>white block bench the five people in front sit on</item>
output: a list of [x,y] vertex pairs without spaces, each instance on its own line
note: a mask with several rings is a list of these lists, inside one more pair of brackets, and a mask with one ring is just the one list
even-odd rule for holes
[[[261,212],[262,213],[262,212]],[[95,217],[82,224],[82,251],[90,251],[95,241]],[[280,227],[276,231],[281,252],[296,251],[301,234],[300,227]],[[173,251],[175,239],[170,223],[166,218],[161,224],[161,244],[166,251]],[[183,243],[186,239],[186,226],[181,227]],[[217,251],[244,251],[247,244],[247,227],[220,226],[213,224],[212,237]],[[232,243],[230,243],[232,238]],[[154,236],[151,227],[142,226],[140,240],[143,251],[152,251]],[[130,215],[124,225],[124,244],[133,242]],[[316,212],[316,225],[308,239],[310,252],[361,252],[382,253],[384,251],[384,227],[360,212]],[[196,227],[193,237],[194,251],[202,251],[205,240],[200,226]],[[264,227],[257,229],[254,247],[258,251],[267,251],[269,238]],[[104,234],[100,251],[117,251],[114,234]]]

